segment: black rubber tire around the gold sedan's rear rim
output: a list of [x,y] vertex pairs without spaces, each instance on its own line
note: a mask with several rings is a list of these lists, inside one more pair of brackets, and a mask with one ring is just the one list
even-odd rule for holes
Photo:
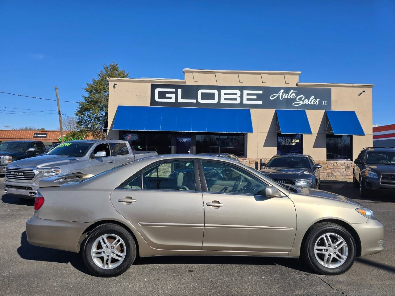
[[[124,259],[118,266],[112,269],[104,269],[99,267],[94,262],[91,255],[93,244],[98,238],[100,238],[100,236],[105,234],[115,234],[119,236],[124,242],[124,249],[126,253]],[[82,250],[82,257],[85,266],[93,275],[100,277],[115,277],[126,272],[130,265],[133,264],[134,260],[136,259],[136,242],[130,232],[128,232],[123,227],[117,224],[103,224],[93,229],[88,235]],[[100,258],[100,260],[103,259]],[[111,260],[114,261],[114,259]]]

